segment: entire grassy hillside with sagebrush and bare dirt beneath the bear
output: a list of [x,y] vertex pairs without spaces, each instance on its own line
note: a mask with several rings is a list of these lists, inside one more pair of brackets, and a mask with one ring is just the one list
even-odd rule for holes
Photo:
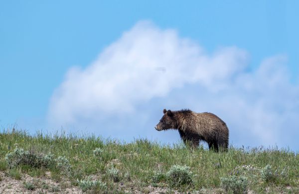
[[147,139],[3,131],[0,173],[0,193],[17,185],[28,193],[299,193],[298,153],[261,147],[214,153]]

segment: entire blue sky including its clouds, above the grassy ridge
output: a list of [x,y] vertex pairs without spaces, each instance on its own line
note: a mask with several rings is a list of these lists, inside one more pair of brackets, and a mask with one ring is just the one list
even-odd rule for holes
[[1,1],[0,127],[175,142],[176,131],[153,126],[163,108],[190,108],[221,117],[234,145],[299,150],[298,8],[295,0]]

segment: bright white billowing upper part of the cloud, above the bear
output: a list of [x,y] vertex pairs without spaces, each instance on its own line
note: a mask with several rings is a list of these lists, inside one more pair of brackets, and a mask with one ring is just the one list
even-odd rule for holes
[[209,57],[174,30],[139,22],[86,69],[68,71],[52,97],[49,118],[73,122],[97,112],[132,112],[138,103],[185,83],[210,87],[226,81],[244,68],[246,59],[246,52],[237,48],[223,48]]

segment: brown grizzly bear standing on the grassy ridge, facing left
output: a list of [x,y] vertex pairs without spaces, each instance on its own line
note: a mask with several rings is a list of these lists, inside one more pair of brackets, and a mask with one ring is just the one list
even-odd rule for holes
[[188,109],[181,111],[163,110],[163,117],[154,127],[156,130],[178,129],[185,144],[196,148],[200,140],[208,143],[209,149],[227,151],[228,128],[212,113],[195,113]]

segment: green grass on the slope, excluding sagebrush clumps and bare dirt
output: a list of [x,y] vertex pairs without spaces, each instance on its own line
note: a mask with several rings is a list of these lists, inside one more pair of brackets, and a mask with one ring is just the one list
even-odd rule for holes
[[[56,165],[46,167],[20,164],[17,170],[9,169],[4,158],[15,147],[34,150],[39,155],[50,152],[55,161],[58,161],[59,156],[65,157],[69,161],[69,169],[62,173],[63,167],[57,165],[57,162]],[[68,161],[62,164],[69,165]],[[190,167],[191,184],[181,185],[179,188],[168,184],[166,175],[174,165]],[[267,165],[271,168],[268,166],[265,169]],[[112,177],[111,169],[118,171],[115,175],[117,178]],[[30,136],[25,131],[1,132],[0,171],[8,174],[21,171],[32,177],[42,177],[46,171],[50,171],[53,180],[68,179],[73,186],[78,186],[77,180],[93,175],[93,181],[99,180],[107,184],[107,191],[119,190],[119,193],[122,192],[120,184],[123,184],[122,188],[130,190],[134,187],[140,191],[145,191],[152,185],[179,191],[200,191],[202,188],[218,191],[222,186],[221,179],[231,176],[246,177],[247,188],[256,193],[265,193],[266,188],[274,193],[296,192],[299,188],[299,154],[287,149],[259,147],[246,150],[230,147],[228,152],[215,153],[202,146],[190,150],[183,144],[161,146],[147,139],[124,143],[94,135],[76,136],[64,133],[39,133]]]

